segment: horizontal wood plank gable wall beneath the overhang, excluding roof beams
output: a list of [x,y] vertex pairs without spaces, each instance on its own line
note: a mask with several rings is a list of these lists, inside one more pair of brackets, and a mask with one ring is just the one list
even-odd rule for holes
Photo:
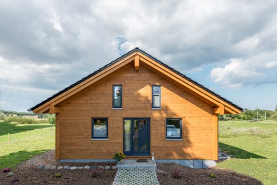
[[[123,85],[123,109],[112,109],[112,85]],[[162,85],[162,110],[151,108],[151,85]],[[116,71],[57,105],[61,159],[111,159],[123,151],[123,118],[151,119],[151,153],[156,159],[213,159],[213,107],[140,63]],[[91,140],[91,118],[109,119],[108,140]],[[166,140],[166,118],[183,118],[183,141]],[[216,139],[217,142],[217,139]],[[216,145],[217,147],[217,145]]]

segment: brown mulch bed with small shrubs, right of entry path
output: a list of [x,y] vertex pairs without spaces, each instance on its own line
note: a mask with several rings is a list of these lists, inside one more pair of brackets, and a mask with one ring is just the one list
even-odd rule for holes
[[[180,170],[181,178],[173,178],[171,172]],[[263,184],[259,180],[230,170],[217,167],[208,169],[191,169],[175,163],[157,163],[157,178],[161,185],[166,184]],[[215,174],[212,178],[210,174]]]

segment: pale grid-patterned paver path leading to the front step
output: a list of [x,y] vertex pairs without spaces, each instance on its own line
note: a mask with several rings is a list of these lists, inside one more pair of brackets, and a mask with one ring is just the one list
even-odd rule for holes
[[113,185],[159,185],[155,169],[118,169]]

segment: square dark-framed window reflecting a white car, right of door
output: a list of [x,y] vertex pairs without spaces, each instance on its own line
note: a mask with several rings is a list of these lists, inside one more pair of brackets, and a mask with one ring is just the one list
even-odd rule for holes
[[182,118],[166,118],[166,138],[182,139]]

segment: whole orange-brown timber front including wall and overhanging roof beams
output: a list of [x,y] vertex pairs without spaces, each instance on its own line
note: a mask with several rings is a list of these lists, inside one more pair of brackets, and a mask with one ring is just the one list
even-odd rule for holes
[[[240,110],[153,65],[143,54],[131,54],[36,107],[36,113],[56,113],[56,159],[111,159],[123,151],[123,119],[150,118],[150,154],[156,159],[217,160],[217,116]],[[114,84],[122,85],[122,109],[112,108]],[[152,109],[152,85],[161,85],[161,109]],[[91,118],[108,118],[107,140],[91,139]],[[166,118],[182,118],[182,140],[166,139]]]

